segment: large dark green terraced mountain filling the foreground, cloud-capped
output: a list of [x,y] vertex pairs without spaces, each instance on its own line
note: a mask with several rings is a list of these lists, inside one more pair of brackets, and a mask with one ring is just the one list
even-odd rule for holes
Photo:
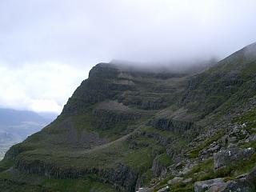
[[100,63],[8,150],[5,191],[255,191],[256,43],[197,72]]

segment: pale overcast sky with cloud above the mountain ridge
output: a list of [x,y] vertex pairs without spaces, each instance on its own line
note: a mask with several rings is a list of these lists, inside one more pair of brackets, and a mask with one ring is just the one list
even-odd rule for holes
[[59,113],[98,62],[224,58],[255,0],[0,0],[0,107]]

